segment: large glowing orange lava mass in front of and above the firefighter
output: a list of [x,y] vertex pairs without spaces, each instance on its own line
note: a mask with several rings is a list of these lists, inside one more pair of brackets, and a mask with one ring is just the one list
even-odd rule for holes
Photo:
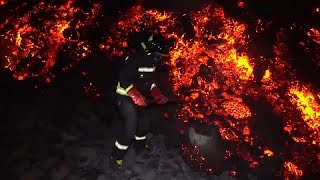
[[[243,8],[245,4],[240,2],[238,6]],[[246,24],[226,17],[219,6],[207,6],[189,14],[195,35],[188,40],[185,39],[186,32],[181,32],[183,27],[177,25],[181,16],[186,15],[134,6],[111,30],[114,38],[107,39],[100,47],[112,56],[122,56],[128,50],[130,33],[135,31],[161,32],[168,38],[174,38],[175,45],[168,64],[172,68],[173,91],[186,100],[178,109],[179,120],[186,127],[190,118],[217,125],[223,139],[233,144],[233,148],[227,150],[227,159],[237,155],[247,161],[250,168],[257,168],[265,158],[276,157],[284,160],[283,172],[278,173],[284,178],[301,177],[312,160],[319,164],[319,98],[312,86],[295,78],[288,64],[285,29],[277,34],[275,57],[259,86],[253,73],[257,57],[251,58],[246,54],[246,42],[250,40],[245,34]],[[309,34],[314,37],[317,32],[311,30]],[[283,147],[283,151],[275,151],[252,131],[255,112],[244,97],[266,99],[273,106],[274,113],[283,118],[280,123],[285,124],[282,133],[287,133],[292,139],[290,146]],[[185,130],[182,128],[181,132]],[[252,154],[249,150],[237,148],[243,143],[258,149],[258,155],[257,152]],[[304,148],[301,148],[301,143]],[[214,172],[214,167],[205,165],[206,158],[197,147],[182,144],[181,148],[192,166]],[[317,171],[317,168],[315,166],[308,171]]]

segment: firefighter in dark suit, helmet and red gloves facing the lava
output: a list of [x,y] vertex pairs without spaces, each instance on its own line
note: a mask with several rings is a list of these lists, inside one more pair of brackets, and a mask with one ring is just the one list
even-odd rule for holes
[[111,165],[117,168],[123,164],[123,158],[132,144],[136,154],[151,152],[152,145],[147,141],[148,119],[141,114],[141,108],[148,105],[150,96],[157,104],[165,104],[164,96],[154,82],[157,67],[165,64],[168,58],[166,40],[162,36],[151,35],[141,46],[144,53],[134,58],[127,57],[118,77],[117,106],[123,126],[117,130],[118,135],[111,153]]

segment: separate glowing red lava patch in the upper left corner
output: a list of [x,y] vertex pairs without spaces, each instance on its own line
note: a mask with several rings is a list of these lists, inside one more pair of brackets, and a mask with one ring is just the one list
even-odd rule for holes
[[[45,77],[49,82],[59,52],[67,51],[72,60],[90,53],[90,45],[80,40],[81,31],[92,25],[101,7],[93,4],[85,11],[75,2],[39,2],[30,11],[8,17],[0,24],[0,55],[5,57],[2,65],[13,72],[13,77]],[[16,11],[29,6],[24,3]],[[68,62],[63,68],[70,68],[73,63]]]

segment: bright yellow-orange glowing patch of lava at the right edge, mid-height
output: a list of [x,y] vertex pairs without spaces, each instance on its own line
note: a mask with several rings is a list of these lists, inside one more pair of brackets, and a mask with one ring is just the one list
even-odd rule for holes
[[320,105],[315,95],[306,87],[290,88],[291,102],[301,111],[306,124],[315,131],[320,131]]

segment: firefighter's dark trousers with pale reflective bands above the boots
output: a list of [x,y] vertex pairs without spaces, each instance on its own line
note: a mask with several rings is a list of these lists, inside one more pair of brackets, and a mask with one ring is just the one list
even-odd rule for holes
[[149,120],[144,116],[145,109],[134,104],[130,97],[118,95],[117,102],[121,125],[117,128],[116,142],[111,156],[122,160],[132,140],[135,141],[135,148],[145,146]]

